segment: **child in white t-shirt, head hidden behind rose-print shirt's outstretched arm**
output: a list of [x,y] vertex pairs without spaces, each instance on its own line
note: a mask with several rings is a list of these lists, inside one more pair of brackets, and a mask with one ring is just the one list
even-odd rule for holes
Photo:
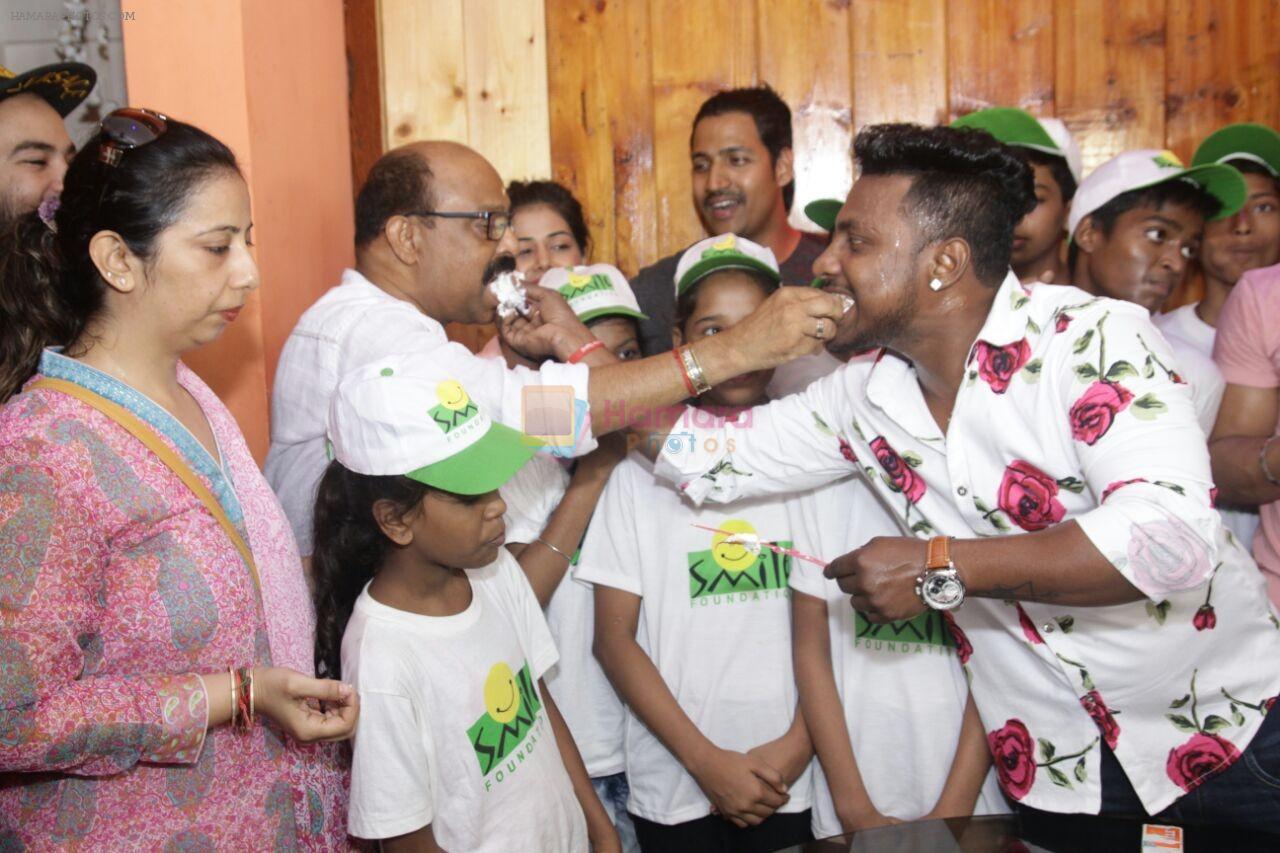
[[[858,462],[849,456],[854,471]],[[823,560],[873,537],[901,535],[858,478],[794,497],[787,510],[796,549]],[[957,648],[961,638],[948,617],[928,611],[877,625],[823,578],[822,566],[804,560],[791,571],[791,592],[796,683],[818,752],[814,836],[1007,812],[986,733],[969,706],[961,669],[968,652]]]

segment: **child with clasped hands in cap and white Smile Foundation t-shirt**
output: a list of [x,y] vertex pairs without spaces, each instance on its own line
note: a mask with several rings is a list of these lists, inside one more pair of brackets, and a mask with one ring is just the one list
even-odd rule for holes
[[[777,287],[777,263],[726,234],[686,251],[677,282],[678,343],[749,315]],[[724,415],[760,402],[769,374],[737,377],[704,401]],[[637,453],[609,479],[573,574],[595,584],[596,657],[627,702],[628,811],[644,850],[750,853],[809,839],[791,560],[756,544],[790,538],[780,500],[696,510]]]

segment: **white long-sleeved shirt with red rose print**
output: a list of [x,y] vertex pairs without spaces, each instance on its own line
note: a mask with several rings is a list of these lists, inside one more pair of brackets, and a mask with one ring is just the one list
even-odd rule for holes
[[1012,274],[966,364],[946,435],[911,365],[886,352],[749,426],[694,426],[655,470],[700,503],[813,488],[852,465],[922,538],[1075,521],[1146,598],[970,598],[959,653],[1009,797],[1096,813],[1105,740],[1156,813],[1239,758],[1280,692],[1280,620],[1213,511],[1190,392],[1143,309]]

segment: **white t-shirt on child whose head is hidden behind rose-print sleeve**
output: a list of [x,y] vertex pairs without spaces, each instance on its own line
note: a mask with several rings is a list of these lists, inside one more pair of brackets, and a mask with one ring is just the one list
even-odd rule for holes
[[[861,479],[846,479],[787,502],[795,547],[831,561],[872,537],[904,535]],[[858,613],[822,567],[797,560],[791,588],[826,599],[831,667],[867,793],[882,815],[916,820],[932,809],[955,758],[969,685],[955,642],[937,611],[876,625]],[[814,762],[813,834],[844,830],[819,762]],[[1009,807],[992,770],[975,815]]]

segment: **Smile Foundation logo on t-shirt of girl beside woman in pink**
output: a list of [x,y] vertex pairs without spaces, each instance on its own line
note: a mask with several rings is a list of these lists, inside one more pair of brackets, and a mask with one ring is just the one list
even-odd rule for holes
[[541,739],[543,704],[538,701],[529,663],[512,672],[498,661],[484,680],[484,713],[467,729],[485,790],[515,774]]

